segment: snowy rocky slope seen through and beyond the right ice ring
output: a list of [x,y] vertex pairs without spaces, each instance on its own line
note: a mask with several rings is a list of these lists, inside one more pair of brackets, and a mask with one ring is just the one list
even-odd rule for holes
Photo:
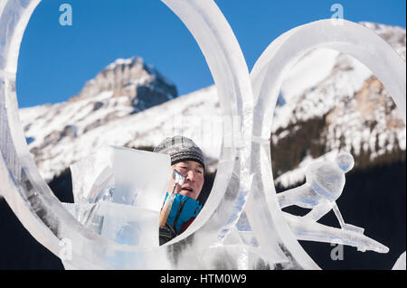
[[[362,24],[378,33],[405,61],[405,29]],[[281,96],[284,99],[279,102],[284,105],[276,109],[271,139],[276,148],[272,157],[277,159],[273,172],[282,186],[303,181],[310,161],[321,156],[333,160],[338,150],[354,154],[359,168],[374,165],[379,159],[383,163],[391,154],[405,160],[402,116],[383,84],[357,60],[336,51],[311,51],[291,70]],[[290,136],[309,146],[298,152],[288,171],[279,163],[290,157],[287,153],[281,156],[279,146],[289,149]]]

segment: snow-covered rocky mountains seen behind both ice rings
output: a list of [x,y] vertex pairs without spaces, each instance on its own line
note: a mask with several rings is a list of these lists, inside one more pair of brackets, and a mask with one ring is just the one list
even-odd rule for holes
[[[405,60],[405,29],[363,24]],[[27,143],[47,181],[104,144],[154,147],[180,133],[203,148],[215,171],[220,113],[216,88],[177,97],[175,85],[140,58],[110,64],[67,102],[20,109]],[[393,153],[405,160],[405,126],[393,100],[370,70],[337,51],[311,51],[298,61],[281,88],[274,119],[273,172],[283,186],[301,181],[312,159],[339,149],[353,153],[361,166]]]

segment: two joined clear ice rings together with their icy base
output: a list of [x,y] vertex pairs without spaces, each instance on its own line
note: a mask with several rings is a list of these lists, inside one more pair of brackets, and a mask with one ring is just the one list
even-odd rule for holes
[[[318,268],[279,209],[272,181],[270,129],[279,88],[308,51],[342,51],[383,82],[405,122],[405,63],[386,42],[355,23],[309,23],[272,42],[250,76],[239,43],[213,1],[163,0],[194,35],[212,72],[222,114],[231,123],[240,116],[240,129],[224,131],[211,197],[191,227],[165,246],[129,246],[80,224],[53,196],[25,143],[15,75],[24,29],[39,2],[0,2],[0,192],[35,239],[55,255],[61,253],[61,240],[70,239],[72,257],[64,264],[71,268],[272,268],[276,263]],[[238,222],[243,213],[247,223]]]

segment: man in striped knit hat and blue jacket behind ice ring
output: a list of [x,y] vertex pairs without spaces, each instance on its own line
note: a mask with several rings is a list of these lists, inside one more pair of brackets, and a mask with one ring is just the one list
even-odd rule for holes
[[154,149],[171,157],[171,177],[160,215],[160,245],[183,233],[202,209],[198,196],[204,186],[204,153],[185,136],[166,138]]

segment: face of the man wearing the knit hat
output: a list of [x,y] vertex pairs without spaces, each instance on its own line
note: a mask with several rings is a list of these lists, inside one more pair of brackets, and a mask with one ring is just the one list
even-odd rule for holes
[[174,192],[196,200],[204,186],[204,167],[194,161],[179,162],[172,165],[171,177],[167,188],[168,192],[171,192],[174,188],[172,176],[174,169],[185,176],[184,184],[182,186],[177,184]]

